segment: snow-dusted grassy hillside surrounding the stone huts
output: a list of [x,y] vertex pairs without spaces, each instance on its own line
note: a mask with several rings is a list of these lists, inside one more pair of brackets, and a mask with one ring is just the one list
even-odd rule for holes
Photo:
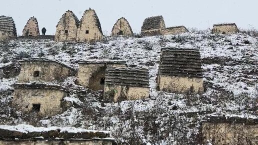
[[[204,94],[175,94],[156,90],[161,47],[199,48]],[[258,48],[252,34],[210,34],[209,30],[151,37],[106,37],[102,42],[68,43],[18,39],[0,43],[0,124],[75,126],[110,130],[117,141],[129,144],[196,144],[200,121],[206,115],[257,118]],[[150,70],[150,98],[105,103],[102,91],[76,85],[76,76],[61,85],[70,90],[73,105],[55,116],[24,114],[10,107],[17,80],[17,60],[43,56],[77,68],[80,60],[126,60],[130,67]],[[10,72],[8,72],[10,71]],[[33,116],[33,119],[31,117]]]

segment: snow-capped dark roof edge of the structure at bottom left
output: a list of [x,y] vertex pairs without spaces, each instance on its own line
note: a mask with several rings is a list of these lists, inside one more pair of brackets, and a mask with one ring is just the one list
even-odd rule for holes
[[[17,133],[21,132],[21,133]],[[75,127],[34,127],[27,124],[0,125],[1,139],[105,139],[113,140],[110,131]]]

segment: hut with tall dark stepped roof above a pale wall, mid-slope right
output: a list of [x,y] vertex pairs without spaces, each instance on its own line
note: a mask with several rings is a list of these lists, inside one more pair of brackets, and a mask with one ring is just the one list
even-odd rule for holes
[[158,89],[167,92],[203,92],[200,52],[198,49],[161,48],[157,78]]

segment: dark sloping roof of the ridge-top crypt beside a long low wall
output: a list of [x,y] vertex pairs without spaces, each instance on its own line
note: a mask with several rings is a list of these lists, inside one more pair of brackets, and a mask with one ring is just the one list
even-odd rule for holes
[[161,22],[164,22],[163,16],[151,16],[144,19],[143,24],[141,26],[141,30],[148,30],[148,29],[156,29],[156,28],[165,28],[161,27]]

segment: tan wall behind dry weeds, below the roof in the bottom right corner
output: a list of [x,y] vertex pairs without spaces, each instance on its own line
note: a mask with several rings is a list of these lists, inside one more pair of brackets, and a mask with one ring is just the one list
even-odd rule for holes
[[258,144],[258,124],[204,122],[201,125],[203,142],[212,144]]

